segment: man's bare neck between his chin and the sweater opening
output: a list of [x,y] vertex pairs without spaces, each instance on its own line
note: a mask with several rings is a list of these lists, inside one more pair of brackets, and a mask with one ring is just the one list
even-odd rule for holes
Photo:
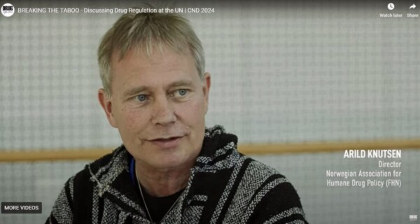
[[170,169],[156,169],[144,162],[136,160],[137,178],[146,189],[146,192],[154,197],[165,197],[186,188],[190,179],[190,168],[193,165],[183,165]]

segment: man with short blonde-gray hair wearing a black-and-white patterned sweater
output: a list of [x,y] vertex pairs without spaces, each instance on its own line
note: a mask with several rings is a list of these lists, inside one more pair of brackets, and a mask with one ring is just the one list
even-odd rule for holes
[[66,182],[47,223],[307,223],[284,176],[205,127],[211,76],[188,20],[127,13],[98,59],[123,146]]

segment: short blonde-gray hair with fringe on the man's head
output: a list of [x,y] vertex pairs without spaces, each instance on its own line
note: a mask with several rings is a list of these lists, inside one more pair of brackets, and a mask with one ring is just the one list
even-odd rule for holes
[[119,52],[119,59],[123,59],[127,51],[135,48],[151,57],[152,50],[162,51],[162,47],[193,55],[198,75],[203,79],[204,50],[186,18],[176,13],[126,13],[106,32],[98,48],[99,73],[106,94],[112,94],[114,52]]

